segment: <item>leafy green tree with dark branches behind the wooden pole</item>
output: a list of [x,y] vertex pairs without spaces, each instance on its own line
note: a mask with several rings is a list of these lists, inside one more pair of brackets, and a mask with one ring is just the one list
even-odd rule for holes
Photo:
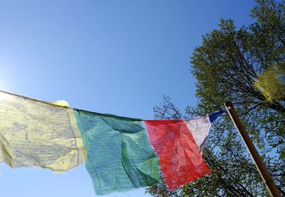
[[[259,74],[285,62],[284,1],[257,0],[252,9],[256,22],[237,29],[231,19],[221,19],[219,29],[202,38],[191,57],[197,79],[195,108],[181,113],[164,96],[155,118],[181,119],[220,111],[232,101],[264,158],[276,186],[285,190],[285,100],[267,101],[254,87]],[[214,123],[204,158],[212,174],[170,192],[163,180],[147,188],[154,196],[268,196],[229,116]]]

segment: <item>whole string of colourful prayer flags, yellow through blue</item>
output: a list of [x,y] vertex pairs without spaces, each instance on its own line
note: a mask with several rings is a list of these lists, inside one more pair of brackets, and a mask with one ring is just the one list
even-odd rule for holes
[[68,171],[84,161],[98,195],[151,186],[170,190],[210,170],[202,157],[211,123],[126,118],[0,91],[0,163]]

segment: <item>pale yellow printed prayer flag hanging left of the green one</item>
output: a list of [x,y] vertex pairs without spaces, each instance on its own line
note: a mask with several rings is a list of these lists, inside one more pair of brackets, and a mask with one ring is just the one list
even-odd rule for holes
[[85,160],[71,108],[0,91],[0,163],[67,171]]

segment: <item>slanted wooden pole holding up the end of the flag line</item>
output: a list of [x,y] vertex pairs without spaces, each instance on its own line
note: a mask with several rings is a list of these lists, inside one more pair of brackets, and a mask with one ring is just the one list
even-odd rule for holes
[[224,103],[224,105],[226,106],[227,112],[229,113],[229,116],[232,118],[234,125],[237,127],[237,131],[239,131],[239,134],[242,137],[242,140],[244,141],[245,146],[247,146],[247,150],[249,151],[250,156],[252,156],[252,159],[254,160],[254,163],[257,166],[257,169],[269,193],[271,194],[271,196],[274,196],[274,197],[281,196],[279,193],[279,190],[276,188],[274,181],[271,178],[269,171],[267,170],[266,166],[264,165],[264,162],[259,156],[259,153],[257,152],[257,148],[255,148],[254,144],[252,143],[252,140],[249,138],[249,135],[247,134],[247,131],[245,130],[242,124],[242,121],[240,121],[239,116],[234,110],[234,106],[232,105],[232,102],[228,101],[227,103]]

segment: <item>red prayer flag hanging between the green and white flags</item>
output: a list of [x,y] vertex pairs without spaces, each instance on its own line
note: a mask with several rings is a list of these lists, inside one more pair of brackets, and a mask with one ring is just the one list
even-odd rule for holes
[[170,190],[211,173],[184,121],[145,121]]

